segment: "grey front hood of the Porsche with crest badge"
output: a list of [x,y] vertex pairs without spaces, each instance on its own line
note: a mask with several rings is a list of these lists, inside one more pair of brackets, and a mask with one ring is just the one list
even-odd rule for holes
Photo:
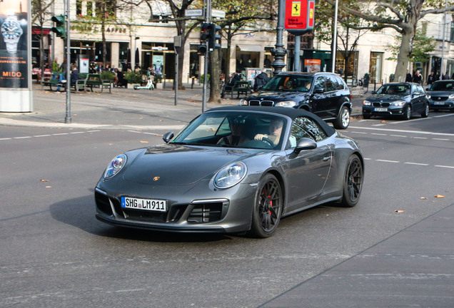
[[243,160],[256,153],[260,151],[158,145],[143,150],[128,165],[123,179],[150,185],[190,185],[213,176],[228,163]]

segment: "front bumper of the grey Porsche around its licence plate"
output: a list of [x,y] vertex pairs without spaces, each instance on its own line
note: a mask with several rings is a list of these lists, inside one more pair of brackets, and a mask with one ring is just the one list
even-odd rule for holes
[[[210,190],[206,183],[187,187],[147,188],[147,190],[95,189],[96,219],[110,225],[167,232],[236,233],[251,229],[252,205],[256,189],[238,184],[226,190]],[[140,185],[139,185],[140,186]],[[205,186],[205,189],[201,189]],[[203,190],[203,191],[202,191]],[[146,193],[144,193],[146,192]],[[166,200],[166,212],[121,207],[121,197]]]

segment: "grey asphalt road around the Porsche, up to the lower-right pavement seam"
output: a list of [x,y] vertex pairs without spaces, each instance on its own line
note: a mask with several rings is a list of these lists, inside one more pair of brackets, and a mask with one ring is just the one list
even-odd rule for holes
[[[367,158],[358,205],[287,217],[266,240],[126,230],[95,219],[94,185],[107,163],[162,143],[164,131],[2,127],[0,307],[367,307],[348,297],[298,306],[289,292],[311,294],[321,274],[453,206],[453,119],[354,119],[343,133]],[[453,276],[444,282],[452,286]],[[437,305],[442,295],[454,302],[446,290],[419,296],[447,307]],[[373,307],[395,307],[389,303]]]

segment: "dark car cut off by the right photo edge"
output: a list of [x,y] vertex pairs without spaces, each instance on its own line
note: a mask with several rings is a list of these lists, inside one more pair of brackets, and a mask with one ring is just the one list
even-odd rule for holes
[[454,80],[435,81],[427,94],[430,109],[454,111]]

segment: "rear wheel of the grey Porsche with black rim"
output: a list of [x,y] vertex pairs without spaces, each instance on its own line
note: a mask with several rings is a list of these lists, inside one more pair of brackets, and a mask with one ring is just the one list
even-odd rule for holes
[[358,203],[363,188],[364,167],[358,155],[348,158],[345,177],[343,180],[343,197],[341,204],[344,207],[354,207]]

